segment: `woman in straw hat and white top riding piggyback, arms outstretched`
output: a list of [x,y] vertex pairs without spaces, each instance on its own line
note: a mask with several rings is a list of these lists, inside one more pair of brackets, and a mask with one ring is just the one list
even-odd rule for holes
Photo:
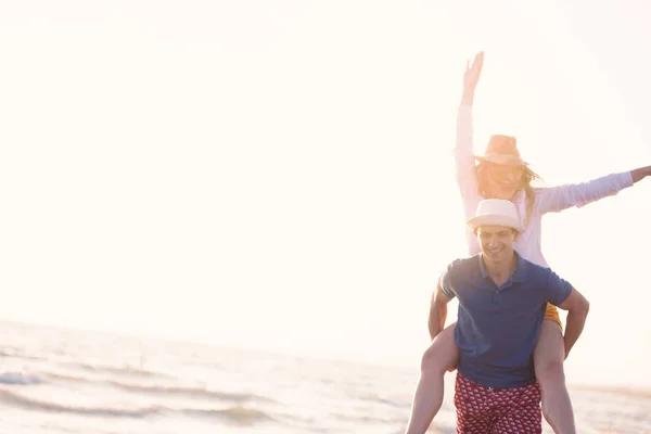
[[[613,174],[580,184],[534,189],[531,182],[538,176],[522,161],[515,138],[493,136],[483,156],[472,153],[472,104],[480,79],[484,53],[478,53],[463,77],[463,95],[457,124],[455,161],[457,183],[463,199],[465,217],[474,215],[483,199],[512,201],[520,213],[525,231],[515,244],[522,257],[548,267],[540,251],[542,215],[572,206],[583,206],[616,194],[640,179],[651,176],[651,166],[623,174]],[[475,159],[478,164],[475,166]],[[470,255],[480,252],[476,239],[468,230]],[[452,371],[459,358],[451,324],[432,336],[433,341],[421,363],[421,376],[416,390],[407,433],[423,434],[443,403],[444,374]],[[538,344],[534,352],[536,378],[542,397],[542,414],[554,433],[575,433],[572,403],[565,386],[562,323],[556,307],[549,305]]]

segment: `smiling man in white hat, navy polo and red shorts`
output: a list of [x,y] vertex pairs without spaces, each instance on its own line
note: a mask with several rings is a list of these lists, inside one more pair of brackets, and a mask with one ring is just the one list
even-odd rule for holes
[[583,331],[589,304],[569,282],[513,250],[523,228],[512,202],[482,201],[468,225],[481,253],[448,266],[430,311],[434,337],[443,330],[448,302],[459,299],[457,432],[540,433],[540,392],[532,356],[546,305],[567,310],[566,357]]

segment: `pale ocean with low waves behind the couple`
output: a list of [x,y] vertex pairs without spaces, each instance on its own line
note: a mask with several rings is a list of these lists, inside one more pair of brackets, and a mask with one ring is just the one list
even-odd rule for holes
[[[0,433],[404,432],[413,368],[1,321]],[[455,433],[454,374],[429,433]],[[571,387],[579,433],[651,433],[646,391]],[[545,425],[545,433],[551,430]]]

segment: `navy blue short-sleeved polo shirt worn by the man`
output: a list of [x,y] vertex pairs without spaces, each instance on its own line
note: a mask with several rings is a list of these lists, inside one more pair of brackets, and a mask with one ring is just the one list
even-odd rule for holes
[[459,299],[455,342],[463,376],[494,388],[533,382],[533,354],[547,302],[562,304],[572,285],[549,268],[518,255],[513,276],[497,286],[482,254],[457,259],[441,277],[441,289]]

